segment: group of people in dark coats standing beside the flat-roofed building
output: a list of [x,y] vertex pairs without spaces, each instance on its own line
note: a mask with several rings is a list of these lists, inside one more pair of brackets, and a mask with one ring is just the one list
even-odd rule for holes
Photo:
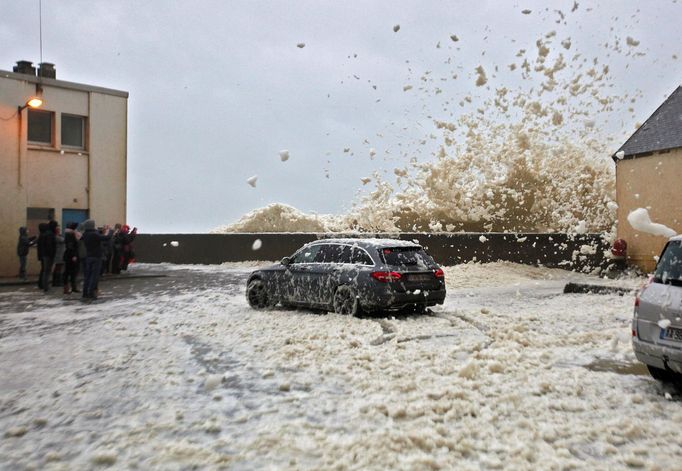
[[40,261],[38,287],[46,293],[50,286],[62,286],[64,294],[80,292],[76,280],[82,271],[82,297],[96,299],[100,276],[119,274],[134,260],[137,228],[130,230],[122,224],[113,229],[109,225],[98,228],[94,220],[88,219],[80,225],[67,224],[63,235],[54,220],[41,223],[38,230],[38,236],[29,236],[26,227],[19,228],[19,277],[26,280],[26,259],[30,247],[35,245]]

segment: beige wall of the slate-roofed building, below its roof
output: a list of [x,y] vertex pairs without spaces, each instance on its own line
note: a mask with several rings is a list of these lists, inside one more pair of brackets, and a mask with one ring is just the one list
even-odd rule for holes
[[653,271],[667,242],[665,237],[636,231],[628,214],[646,208],[653,222],[682,232],[682,149],[654,153],[616,163],[618,238],[628,243],[628,263]]

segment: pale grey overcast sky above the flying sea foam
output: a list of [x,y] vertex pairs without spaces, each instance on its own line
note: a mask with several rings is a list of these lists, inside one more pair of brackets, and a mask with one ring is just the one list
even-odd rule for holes
[[[609,64],[617,92],[641,91],[634,117],[609,117],[620,145],[682,82],[682,6],[577,3],[43,0],[43,60],[57,78],[130,92],[128,222],[202,232],[272,202],[344,211],[362,177],[432,158],[433,119],[463,112],[443,101],[490,92],[478,65],[506,86],[495,65],[552,30]],[[604,47],[627,36],[639,56]],[[0,0],[0,44],[0,69],[39,62],[38,0]],[[442,94],[417,93],[427,71]]]

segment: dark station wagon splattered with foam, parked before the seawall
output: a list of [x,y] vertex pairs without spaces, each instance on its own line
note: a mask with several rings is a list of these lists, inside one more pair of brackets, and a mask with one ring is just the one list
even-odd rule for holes
[[263,309],[301,306],[355,315],[443,304],[445,276],[416,243],[323,239],[249,276],[246,297]]

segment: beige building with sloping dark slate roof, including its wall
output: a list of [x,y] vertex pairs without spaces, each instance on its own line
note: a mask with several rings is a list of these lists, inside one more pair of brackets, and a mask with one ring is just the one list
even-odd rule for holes
[[612,157],[618,238],[628,243],[628,263],[650,272],[666,239],[635,231],[627,216],[634,209],[646,208],[652,221],[682,232],[682,87]]

